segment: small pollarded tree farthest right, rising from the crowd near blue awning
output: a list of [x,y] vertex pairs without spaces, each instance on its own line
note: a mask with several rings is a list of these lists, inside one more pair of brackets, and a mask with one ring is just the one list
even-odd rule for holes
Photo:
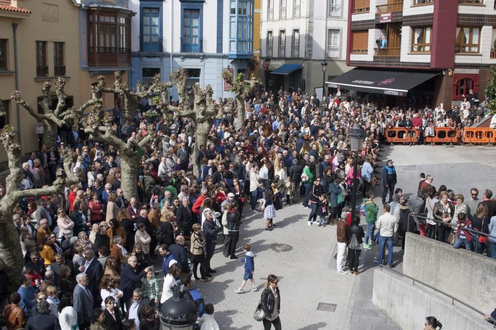
[[236,131],[238,131],[245,125],[245,99],[249,96],[251,91],[253,91],[255,85],[260,84],[261,82],[255,77],[251,77],[250,80],[245,80],[244,73],[239,73],[233,81],[233,75],[229,71],[224,71],[222,73],[222,78],[232,86],[231,92],[234,92],[234,98],[236,99],[236,116],[238,118]]

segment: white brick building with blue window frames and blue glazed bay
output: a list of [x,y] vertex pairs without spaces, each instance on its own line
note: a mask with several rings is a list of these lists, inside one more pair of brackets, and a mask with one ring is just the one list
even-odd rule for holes
[[[149,83],[186,68],[187,88],[212,86],[214,97],[233,96],[222,71],[247,72],[253,57],[253,0],[130,0],[130,81]],[[175,88],[171,93],[178,98]],[[191,95],[192,97],[192,95]]]

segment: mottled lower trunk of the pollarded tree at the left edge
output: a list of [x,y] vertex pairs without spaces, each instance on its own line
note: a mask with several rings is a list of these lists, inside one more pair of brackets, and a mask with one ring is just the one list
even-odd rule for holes
[[5,272],[9,279],[10,292],[15,292],[19,288],[19,276],[24,265],[21,251],[19,234],[12,222],[12,210],[0,210],[0,258],[6,265]]

